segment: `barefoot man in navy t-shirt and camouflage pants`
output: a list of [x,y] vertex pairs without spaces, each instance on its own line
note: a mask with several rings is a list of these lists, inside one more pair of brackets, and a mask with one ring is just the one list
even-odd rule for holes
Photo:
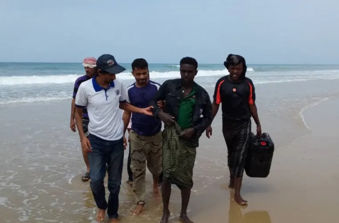
[[[136,107],[146,108],[156,95],[160,84],[149,80],[148,63],[145,59],[135,59],[132,63],[135,83],[126,88],[126,101]],[[124,111],[124,133],[131,113]],[[162,133],[161,120],[139,113],[132,114],[132,127],[129,133],[131,145],[131,169],[133,189],[137,208],[132,214],[138,215],[145,205],[145,174],[147,168],[153,175],[153,196],[160,198],[158,180],[162,171]]]

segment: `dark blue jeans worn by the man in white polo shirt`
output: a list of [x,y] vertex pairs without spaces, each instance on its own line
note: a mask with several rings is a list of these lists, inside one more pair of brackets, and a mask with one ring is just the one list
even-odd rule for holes
[[[89,153],[89,175],[91,177],[90,186],[95,203],[99,209],[106,210],[109,218],[117,219],[119,208],[119,192],[121,185],[121,175],[124,160],[123,139],[107,141],[90,134],[88,136],[92,146]],[[108,175],[108,204],[105,198],[104,178]]]

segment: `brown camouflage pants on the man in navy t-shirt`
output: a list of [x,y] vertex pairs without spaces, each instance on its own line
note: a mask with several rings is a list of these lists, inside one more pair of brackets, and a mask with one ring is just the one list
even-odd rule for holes
[[162,171],[162,134],[140,136],[131,130],[131,169],[133,172],[133,190],[137,204],[145,204],[145,174],[147,168],[158,178]]

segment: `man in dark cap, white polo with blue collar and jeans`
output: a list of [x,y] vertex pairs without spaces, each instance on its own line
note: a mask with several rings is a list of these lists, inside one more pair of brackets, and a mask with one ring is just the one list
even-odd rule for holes
[[[145,115],[152,115],[150,107],[137,108],[125,100],[125,89],[116,74],[125,70],[109,54],[97,59],[97,75],[83,82],[75,98],[75,119],[81,147],[89,153],[91,189],[98,206],[97,221],[105,219],[105,211],[111,222],[118,222],[119,192],[124,158],[124,125],[119,108]],[[88,139],[82,128],[82,109],[87,108],[89,122]],[[108,175],[108,203],[105,199],[105,163]]]

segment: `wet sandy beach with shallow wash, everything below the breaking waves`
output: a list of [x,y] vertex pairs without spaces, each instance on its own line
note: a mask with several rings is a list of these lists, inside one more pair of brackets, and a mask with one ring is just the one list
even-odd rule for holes
[[[339,186],[337,125],[339,80],[257,85],[262,130],[276,146],[267,178],[244,177],[237,205],[227,189],[227,152],[221,111],[213,136],[201,137],[188,215],[195,223],[337,222]],[[324,86],[324,87],[319,87]],[[213,89],[207,89],[212,97]],[[1,222],[95,222],[96,206],[78,134],[69,129],[70,100],[0,106]],[[255,125],[253,123],[253,129]],[[146,210],[131,216],[134,196],[127,180],[125,151],[120,191],[121,222],[159,222],[161,201],[152,198],[147,172]],[[106,183],[107,178],[105,178]],[[106,194],[108,196],[108,192]],[[173,186],[171,222],[178,222],[180,191]]]

